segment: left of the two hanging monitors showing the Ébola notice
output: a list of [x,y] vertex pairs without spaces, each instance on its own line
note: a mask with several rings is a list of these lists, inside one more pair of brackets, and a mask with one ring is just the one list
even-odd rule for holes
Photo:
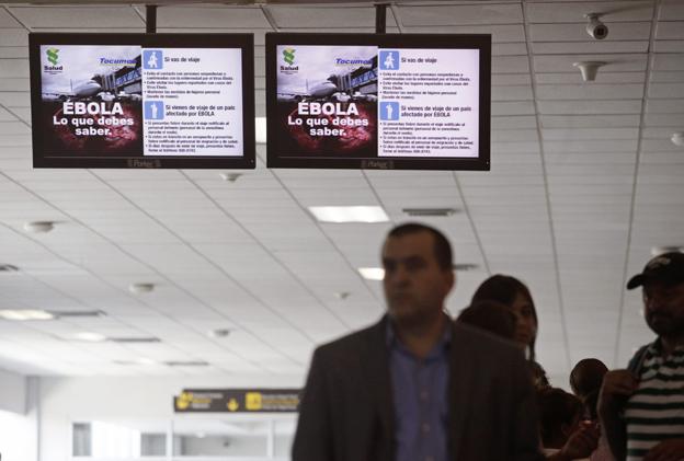
[[250,34],[30,34],[34,168],[254,168]]

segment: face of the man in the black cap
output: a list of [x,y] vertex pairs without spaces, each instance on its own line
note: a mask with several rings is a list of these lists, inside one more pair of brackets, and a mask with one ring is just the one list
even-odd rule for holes
[[661,336],[684,334],[684,284],[647,281],[643,307],[646,323],[653,332]]

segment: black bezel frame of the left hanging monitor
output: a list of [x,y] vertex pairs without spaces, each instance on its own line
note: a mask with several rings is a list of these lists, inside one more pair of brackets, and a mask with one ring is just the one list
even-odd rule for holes
[[107,157],[79,158],[46,155],[41,134],[32,130],[33,168],[88,169],[254,169],[254,36],[252,34],[99,34],[99,33],[31,33],[29,54],[31,67],[31,105],[33,126],[39,126],[42,101],[42,45],[140,45],[167,48],[239,48],[242,56],[242,139],[241,157]]

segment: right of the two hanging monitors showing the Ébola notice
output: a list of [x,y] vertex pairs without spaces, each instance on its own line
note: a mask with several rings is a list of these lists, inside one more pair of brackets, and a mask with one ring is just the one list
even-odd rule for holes
[[489,170],[491,35],[266,34],[270,168]]

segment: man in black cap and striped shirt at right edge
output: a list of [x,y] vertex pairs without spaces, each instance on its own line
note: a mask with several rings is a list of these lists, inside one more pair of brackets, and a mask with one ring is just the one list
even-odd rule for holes
[[684,459],[684,253],[652,258],[627,284],[642,287],[646,322],[658,338],[627,370],[608,371],[598,415],[617,460]]

